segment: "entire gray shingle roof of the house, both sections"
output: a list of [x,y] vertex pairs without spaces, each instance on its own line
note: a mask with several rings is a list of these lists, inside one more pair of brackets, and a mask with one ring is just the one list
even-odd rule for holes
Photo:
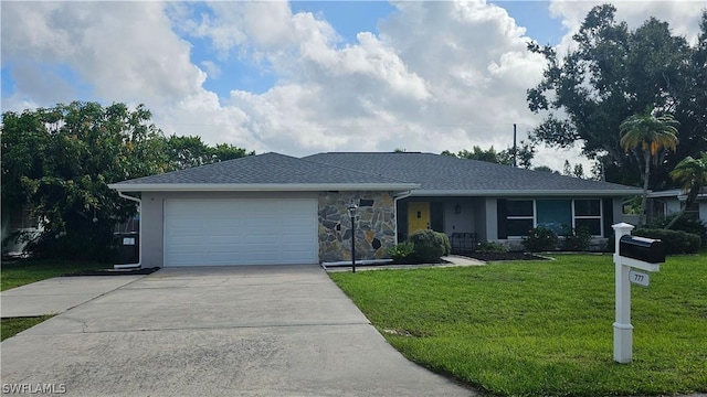
[[[263,185],[281,190],[297,186],[341,189],[410,190],[413,194],[639,194],[636,187],[587,181],[548,172],[517,169],[483,161],[432,153],[334,152],[303,159],[278,153],[250,155],[215,164],[139,178],[113,184],[117,190],[220,190],[221,186],[258,190]],[[209,187],[207,187],[207,185]],[[348,186],[342,186],[348,185]],[[175,187],[177,186],[177,187]],[[191,186],[191,187],[190,187]],[[243,187],[245,186],[245,187]],[[292,186],[292,187],[289,187]],[[350,189],[349,189],[350,190]]]

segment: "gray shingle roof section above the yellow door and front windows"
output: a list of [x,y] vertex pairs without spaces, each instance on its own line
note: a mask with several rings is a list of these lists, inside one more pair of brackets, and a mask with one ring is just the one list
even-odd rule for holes
[[[433,153],[319,153],[304,158],[313,162],[336,164],[362,172],[380,172],[390,178],[414,181],[422,191],[478,192],[569,192],[602,193],[640,190],[631,186],[588,181],[549,172],[518,169],[476,160]],[[621,193],[625,194],[625,193]]]

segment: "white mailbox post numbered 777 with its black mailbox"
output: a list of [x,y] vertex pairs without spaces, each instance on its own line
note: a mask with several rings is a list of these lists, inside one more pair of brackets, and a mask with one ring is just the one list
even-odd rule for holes
[[631,268],[658,271],[665,262],[665,246],[661,240],[631,236],[634,226],[620,223],[612,226],[616,236],[614,265],[616,271],[616,321],[614,322],[614,361],[631,363],[633,325],[631,325]]

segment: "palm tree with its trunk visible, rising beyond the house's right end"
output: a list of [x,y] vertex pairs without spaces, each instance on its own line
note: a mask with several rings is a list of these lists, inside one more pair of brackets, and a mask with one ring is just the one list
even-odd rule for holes
[[[657,154],[665,149],[675,150],[677,147],[677,126],[679,122],[672,116],[653,116],[650,109],[645,114],[626,117],[620,126],[621,147],[627,152],[632,149],[643,152],[643,198],[642,214],[645,216],[645,204],[648,197],[648,178],[651,176],[651,159],[657,160]],[[645,219],[642,219],[645,222]]]

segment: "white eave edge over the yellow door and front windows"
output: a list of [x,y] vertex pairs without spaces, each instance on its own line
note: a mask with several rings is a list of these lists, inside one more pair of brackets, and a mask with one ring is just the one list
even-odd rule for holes
[[626,196],[642,194],[640,189],[621,190],[414,190],[412,196],[503,196],[503,197],[526,197],[526,196]]

